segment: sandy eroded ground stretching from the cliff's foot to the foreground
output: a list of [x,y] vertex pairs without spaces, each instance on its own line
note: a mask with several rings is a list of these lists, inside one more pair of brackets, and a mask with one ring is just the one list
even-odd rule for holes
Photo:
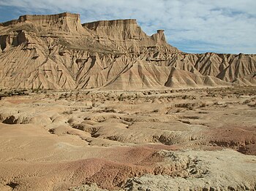
[[2,97],[0,190],[256,190],[256,88]]

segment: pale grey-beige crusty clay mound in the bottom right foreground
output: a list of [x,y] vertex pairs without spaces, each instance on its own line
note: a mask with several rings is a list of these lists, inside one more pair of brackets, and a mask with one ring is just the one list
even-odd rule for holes
[[[251,156],[244,158],[229,149],[215,151],[210,155],[206,152],[203,157],[202,152],[187,152],[190,158],[188,169],[194,176],[184,178],[147,174],[129,179],[125,187],[127,190],[255,190],[255,159]],[[223,155],[224,152],[228,154]],[[175,156],[178,157],[177,160],[184,160],[184,151],[176,152]],[[201,163],[203,160],[205,162]],[[195,161],[195,164],[191,163],[192,161]],[[233,163],[232,170],[230,163]],[[247,174],[252,168],[252,174]]]

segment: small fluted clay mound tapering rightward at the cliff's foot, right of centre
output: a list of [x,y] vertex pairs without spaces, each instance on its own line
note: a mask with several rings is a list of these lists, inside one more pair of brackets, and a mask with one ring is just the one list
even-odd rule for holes
[[187,87],[214,87],[214,86],[229,86],[229,82],[222,81],[216,77],[202,76],[193,74],[189,71],[182,71],[172,68],[165,86],[175,88],[187,88]]

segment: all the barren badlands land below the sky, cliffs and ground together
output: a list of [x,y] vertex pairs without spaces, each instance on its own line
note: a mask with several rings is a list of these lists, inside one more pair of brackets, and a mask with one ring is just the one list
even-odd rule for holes
[[256,55],[67,12],[0,45],[0,190],[256,190]]

